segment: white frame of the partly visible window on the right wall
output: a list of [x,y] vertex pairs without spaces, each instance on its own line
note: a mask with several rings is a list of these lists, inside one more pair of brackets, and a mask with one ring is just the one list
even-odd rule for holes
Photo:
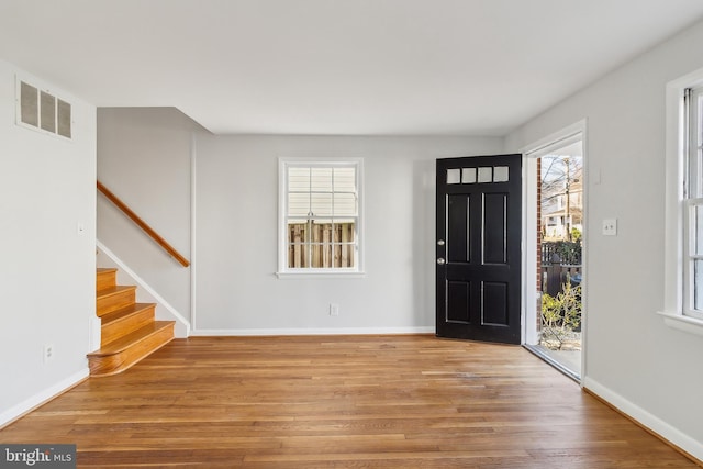
[[693,208],[703,204],[703,187],[691,185],[691,176],[696,174],[703,186],[703,164],[691,157],[698,147],[691,144],[690,126],[700,129],[701,124],[701,114],[692,120],[693,109],[688,105],[689,90],[695,89],[703,89],[703,68],[667,85],[665,304],[658,313],[668,326],[703,336],[703,314],[690,308],[693,299],[690,264],[700,257],[690,254],[690,217]]

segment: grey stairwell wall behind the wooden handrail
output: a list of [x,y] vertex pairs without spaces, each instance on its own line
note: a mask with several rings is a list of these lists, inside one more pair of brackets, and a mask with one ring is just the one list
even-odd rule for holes
[[[191,136],[205,132],[175,108],[98,110],[98,179],[190,259]],[[98,239],[190,319],[190,275],[102,194]]]

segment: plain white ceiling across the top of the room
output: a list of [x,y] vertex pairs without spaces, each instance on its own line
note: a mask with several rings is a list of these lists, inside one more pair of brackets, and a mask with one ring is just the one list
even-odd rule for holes
[[0,0],[0,58],[214,133],[503,135],[701,0]]

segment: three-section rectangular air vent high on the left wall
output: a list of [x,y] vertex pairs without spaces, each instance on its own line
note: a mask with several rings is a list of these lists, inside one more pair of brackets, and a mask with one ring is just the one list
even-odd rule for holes
[[70,103],[25,81],[18,85],[18,124],[70,138]]

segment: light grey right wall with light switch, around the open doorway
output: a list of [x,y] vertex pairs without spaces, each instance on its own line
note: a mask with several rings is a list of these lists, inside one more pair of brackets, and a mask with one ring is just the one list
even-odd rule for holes
[[[703,459],[703,337],[663,308],[666,85],[703,67],[703,23],[506,138],[517,150],[588,120],[584,386]],[[601,235],[617,219],[615,237]]]

